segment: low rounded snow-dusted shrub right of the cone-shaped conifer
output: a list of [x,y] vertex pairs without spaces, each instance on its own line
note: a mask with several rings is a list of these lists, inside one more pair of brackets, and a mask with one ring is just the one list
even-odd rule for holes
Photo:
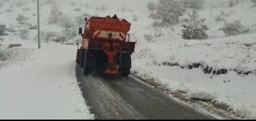
[[222,30],[226,36],[242,34],[244,31],[244,26],[242,26],[241,21],[235,20],[232,22],[224,22],[224,26],[219,30]]

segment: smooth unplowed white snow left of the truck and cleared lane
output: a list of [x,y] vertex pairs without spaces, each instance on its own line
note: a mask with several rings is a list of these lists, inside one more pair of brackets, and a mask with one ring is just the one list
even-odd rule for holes
[[22,44],[12,50],[28,49],[35,58],[0,69],[0,119],[94,119],[73,67],[76,46],[43,43],[33,51],[36,43]]

